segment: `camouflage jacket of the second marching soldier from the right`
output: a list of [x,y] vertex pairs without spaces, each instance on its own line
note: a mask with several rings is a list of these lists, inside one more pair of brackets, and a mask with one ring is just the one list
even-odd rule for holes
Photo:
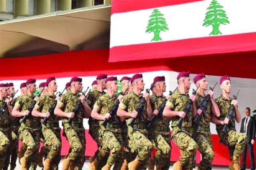
[[[204,98],[206,96],[202,96],[201,94],[199,94],[198,92],[196,93],[196,107],[199,109],[201,103],[203,102]],[[205,110],[205,119],[203,116],[203,113],[201,114],[198,124],[200,127],[210,127],[210,119],[211,119],[211,115],[212,115],[212,102],[211,100],[208,101],[207,103],[207,108]]]

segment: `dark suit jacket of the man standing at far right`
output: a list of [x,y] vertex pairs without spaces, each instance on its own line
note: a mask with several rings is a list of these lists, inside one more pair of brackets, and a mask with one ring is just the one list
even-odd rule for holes
[[[240,132],[244,133],[245,118],[242,119]],[[247,126],[247,143],[250,143],[252,139],[255,139],[256,133],[256,120],[251,116]]]

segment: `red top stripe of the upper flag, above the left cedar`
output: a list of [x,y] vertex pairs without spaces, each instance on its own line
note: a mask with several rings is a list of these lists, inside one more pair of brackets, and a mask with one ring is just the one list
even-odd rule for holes
[[198,1],[203,0],[112,0],[111,14]]

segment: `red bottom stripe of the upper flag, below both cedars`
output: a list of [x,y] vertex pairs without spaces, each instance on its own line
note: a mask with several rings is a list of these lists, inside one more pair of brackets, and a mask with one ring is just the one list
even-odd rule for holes
[[256,51],[256,32],[115,46],[110,62]]

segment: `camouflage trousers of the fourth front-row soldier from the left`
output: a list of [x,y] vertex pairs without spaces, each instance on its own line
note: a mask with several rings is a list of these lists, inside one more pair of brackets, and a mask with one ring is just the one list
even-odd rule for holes
[[67,140],[70,143],[70,152],[68,153],[67,158],[74,161],[75,170],[81,170],[85,161],[84,128],[71,127],[68,123],[65,123],[64,130]]

